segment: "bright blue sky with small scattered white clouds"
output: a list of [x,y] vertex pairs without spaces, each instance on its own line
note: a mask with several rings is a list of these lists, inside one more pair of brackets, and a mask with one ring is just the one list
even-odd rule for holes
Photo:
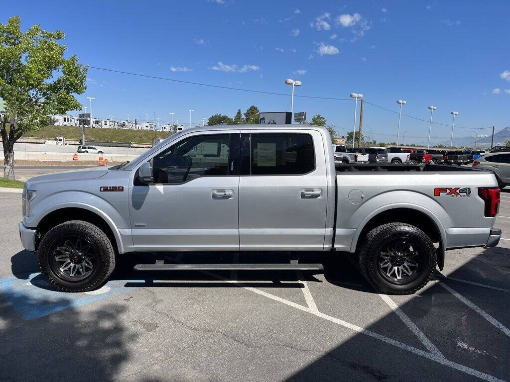
[[[508,1],[89,1],[7,2],[0,22],[20,15],[66,34],[67,53],[86,65],[213,85],[289,93],[286,78],[301,80],[296,95],[349,98],[428,121],[451,124],[455,137],[510,125]],[[290,111],[290,97],[221,90],[89,69],[84,105],[95,116],[181,123],[221,113],[234,116],[255,104]],[[499,91],[498,91],[499,90]],[[339,135],[352,129],[352,101],[294,99],[294,111],[320,113]],[[359,105],[358,105],[359,107]],[[72,112],[70,114],[73,114]],[[365,104],[364,129],[395,141],[398,115]],[[402,117],[405,143],[423,142],[428,122]],[[489,130],[485,130],[489,131]],[[451,129],[433,125],[433,142]]]

